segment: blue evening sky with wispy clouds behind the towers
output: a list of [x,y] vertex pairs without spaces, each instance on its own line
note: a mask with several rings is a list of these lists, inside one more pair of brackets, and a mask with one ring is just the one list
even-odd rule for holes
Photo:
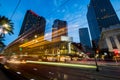
[[[120,0],[110,0],[120,19]],[[19,0],[0,0],[0,15],[10,19]],[[4,43],[10,44],[17,39],[21,25],[27,10],[45,17],[46,33],[51,32],[55,19],[67,21],[68,36],[73,37],[74,42],[80,42],[78,30],[88,27],[86,13],[90,0],[21,0],[15,14],[11,18],[14,23],[14,34],[6,35]]]

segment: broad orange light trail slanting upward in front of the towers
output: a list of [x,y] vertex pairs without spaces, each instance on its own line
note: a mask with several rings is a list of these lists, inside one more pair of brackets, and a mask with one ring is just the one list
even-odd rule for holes
[[[54,41],[52,41],[52,42],[55,42],[56,40],[60,41],[59,37],[61,35],[64,35],[66,33],[65,31],[66,31],[66,28],[61,28],[61,29],[58,29],[56,31],[53,31],[52,35],[54,37]],[[42,46],[42,45],[45,45],[45,44],[48,44],[48,43],[51,43],[51,42],[45,41],[44,36],[40,36],[40,37],[35,38],[35,39],[33,39],[29,42],[21,44],[19,47],[33,48],[33,47]]]

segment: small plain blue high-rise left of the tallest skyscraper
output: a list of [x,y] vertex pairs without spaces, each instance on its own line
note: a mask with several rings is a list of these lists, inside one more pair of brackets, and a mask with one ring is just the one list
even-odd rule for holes
[[79,29],[80,42],[83,46],[91,47],[88,28]]

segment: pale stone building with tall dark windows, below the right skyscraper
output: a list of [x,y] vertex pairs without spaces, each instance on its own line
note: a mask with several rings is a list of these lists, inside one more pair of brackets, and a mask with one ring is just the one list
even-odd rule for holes
[[103,29],[99,40],[99,48],[101,50],[108,49],[111,53],[118,50],[118,53],[120,53],[120,25]]

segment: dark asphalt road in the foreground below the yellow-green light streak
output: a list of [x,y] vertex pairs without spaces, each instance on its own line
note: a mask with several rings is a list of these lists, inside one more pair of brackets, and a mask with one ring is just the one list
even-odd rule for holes
[[45,64],[14,64],[7,66],[17,74],[29,80],[120,80],[120,68],[102,66],[96,72],[94,68],[75,68]]

